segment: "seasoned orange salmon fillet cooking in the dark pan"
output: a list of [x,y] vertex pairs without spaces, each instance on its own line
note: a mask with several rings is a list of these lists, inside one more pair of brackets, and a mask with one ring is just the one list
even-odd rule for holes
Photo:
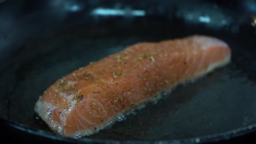
[[34,111],[63,136],[95,134],[162,92],[223,67],[230,57],[228,44],[204,35],[134,44],[57,80]]

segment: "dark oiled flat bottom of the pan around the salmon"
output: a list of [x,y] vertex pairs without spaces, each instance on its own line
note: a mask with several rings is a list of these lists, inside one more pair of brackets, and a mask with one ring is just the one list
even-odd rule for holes
[[[163,22],[160,23],[162,25]],[[157,25],[154,23],[152,27]],[[234,35],[200,32],[190,28],[182,31],[178,27],[174,31],[168,27],[168,23],[157,31],[143,28],[143,25],[133,27],[141,31],[131,33],[118,29],[118,32],[104,32],[99,36],[86,34],[89,29],[81,26],[27,41],[13,57],[9,57],[7,67],[1,70],[0,79],[5,82],[1,91],[6,94],[7,101],[5,107],[1,107],[1,114],[27,128],[50,131],[34,114],[33,108],[39,96],[57,79],[131,44],[206,34],[223,39],[230,45],[232,62],[229,65],[193,83],[179,86],[157,103],[148,104],[127,116],[124,121],[81,139],[177,140],[224,133],[256,124],[256,85],[253,75],[256,71],[251,67],[255,65],[255,59],[251,56],[254,51],[251,46],[252,43],[255,45],[255,41],[249,38],[239,41],[240,38]],[[98,32],[104,30],[98,29]],[[148,32],[144,33],[146,30]]]

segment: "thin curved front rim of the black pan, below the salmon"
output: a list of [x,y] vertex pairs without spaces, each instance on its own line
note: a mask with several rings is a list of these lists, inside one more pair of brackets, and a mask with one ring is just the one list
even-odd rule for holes
[[10,121],[6,118],[3,119],[4,123],[6,123],[9,127],[13,127],[16,130],[24,131],[26,133],[42,136],[51,140],[59,140],[63,142],[91,142],[91,143],[207,143],[207,142],[218,142],[222,140],[229,140],[235,138],[237,136],[243,136],[249,133],[253,133],[256,131],[256,124],[247,125],[246,127],[241,127],[234,130],[224,131],[222,133],[205,135],[205,136],[198,136],[198,137],[190,137],[187,139],[173,139],[173,140],[156,140],[156,141],[139,141],[139,140],[127,140],[127,141],[118,141],[118,140],[100,140],[100,139],[89,139],[82,137],[81,139],[73,139],[71,137],[65,137],[61,135],[57,135],[50,131],[39,130],[34,128],[29,128],[25,124],[17,123]]

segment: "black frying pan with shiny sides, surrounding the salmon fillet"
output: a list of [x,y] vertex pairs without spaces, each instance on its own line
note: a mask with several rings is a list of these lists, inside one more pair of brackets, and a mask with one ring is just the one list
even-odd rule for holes
[[[256,130],[255,1],[1,1],[0,116],[6,135],[66,143],[209,143]],[[205,34],[232,62],[80,139],[53,133],[34,104],[57,79],[141,41]]]

